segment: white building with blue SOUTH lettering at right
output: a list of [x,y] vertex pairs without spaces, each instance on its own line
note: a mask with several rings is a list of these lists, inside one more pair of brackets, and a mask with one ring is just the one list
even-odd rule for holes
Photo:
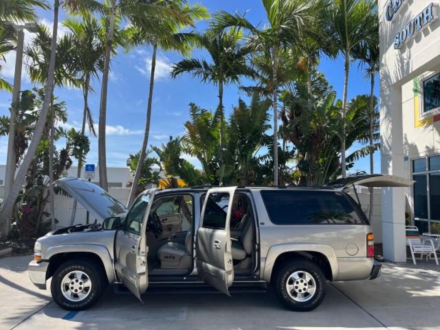
[[412,188],[382,189],[384,256],[405,261],[405,211],[419,231],[440,224],[439,0],[379,0],[382,173]]

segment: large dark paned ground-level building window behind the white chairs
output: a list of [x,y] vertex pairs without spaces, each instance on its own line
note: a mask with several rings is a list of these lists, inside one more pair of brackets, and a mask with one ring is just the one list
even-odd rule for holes
[[412,161],[414,225],[420,233],[440,234],[440,156]]

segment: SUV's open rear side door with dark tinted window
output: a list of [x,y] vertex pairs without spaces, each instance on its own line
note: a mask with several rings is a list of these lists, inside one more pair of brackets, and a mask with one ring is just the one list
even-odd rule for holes
[[228,296],[228,288],[234,280],[230,223],[235,189],[224,187],[208,190],[196,240],[199,278]]

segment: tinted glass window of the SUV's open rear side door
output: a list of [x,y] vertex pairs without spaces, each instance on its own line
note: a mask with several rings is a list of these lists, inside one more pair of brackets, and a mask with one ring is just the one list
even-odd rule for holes
[[202,227],[224,229],[226,226],[229,193],[211,193],[206,202]]

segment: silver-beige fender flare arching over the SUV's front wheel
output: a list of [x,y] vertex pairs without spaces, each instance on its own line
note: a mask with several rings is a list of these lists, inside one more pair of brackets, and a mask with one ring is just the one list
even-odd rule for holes
[[109,283],[113,283],[114,280],[116,279],[114,267],[113,267],[113,258],[111,257],[107,248],[101,244],[71,244],[71,245],[52,246],[48,248],[44,253],[44,259],[49,260],[51,257],[55,256],[56,254],[71,253],[71,252],[76,252],[76,253],[87,252],[87,253],[96,254],[103,262]]

